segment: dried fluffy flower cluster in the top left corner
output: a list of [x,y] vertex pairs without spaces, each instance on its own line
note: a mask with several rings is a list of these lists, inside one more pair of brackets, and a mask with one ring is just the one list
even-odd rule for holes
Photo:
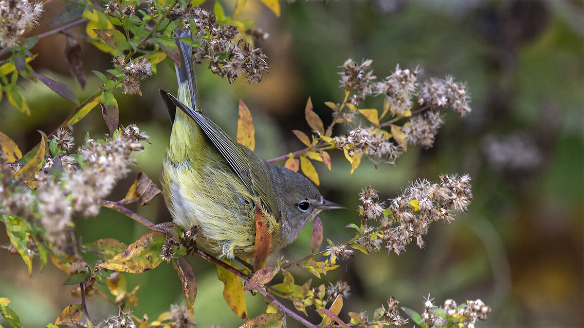
[[0,1],[0,47],[9,48],[18,44],[19,37],[27,27],[37,23],[43,12],[41,2],[27,0]]

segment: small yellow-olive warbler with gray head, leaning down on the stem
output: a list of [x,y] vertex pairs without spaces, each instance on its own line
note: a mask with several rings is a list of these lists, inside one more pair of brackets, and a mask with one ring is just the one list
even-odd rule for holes
[[[180,34],[179,37],[188,34]],[[176,39],[178,99],[161,90],[172,121],[162,188],[173,221],[200,227],[197,245],[233,259],[253,257],[256,207],[272,235],[270,252],[297,238],[319,212],[345,208],[325,200],[306,177],[272,165],[234,142],[197,102],[191,47]],[[179,110],[176,110],[176,109]]]

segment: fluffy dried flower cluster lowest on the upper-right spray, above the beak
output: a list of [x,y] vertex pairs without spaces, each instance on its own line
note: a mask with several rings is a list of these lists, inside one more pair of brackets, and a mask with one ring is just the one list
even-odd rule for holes
[[394,163],[402,154],[402,149],[390,141],[384,130],[375,127],[358,127],[349,133],[333,138],[338,148],[344,148],[347,155],[367,155],[374,163]]

